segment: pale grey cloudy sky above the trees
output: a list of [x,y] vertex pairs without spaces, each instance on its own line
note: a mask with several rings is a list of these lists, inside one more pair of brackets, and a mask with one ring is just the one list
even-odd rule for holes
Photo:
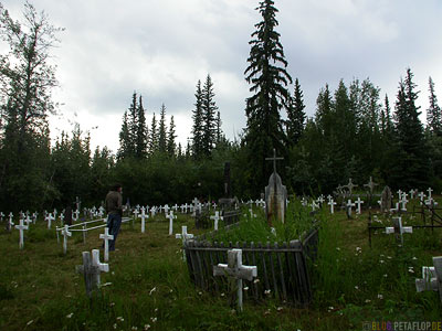
[[[23,2],[0,0],[14,18]],[[33,0],[50,21],[65,28],[54,50],[63,103],[51,119],[53,137],[76,121],[93,146],[116,151],[122,116],[136,90],[148,120],[161,104],[175,116],[178,139],[190,137],[198,79],[210,74],[223,131],[233,139],[245,126],[249,86],[244,70],[257,0]],[[328,83],[370,81],[396,99],[398,82],[411,67],[419,105],[428,107],[432,76],[442,100],[440,0],[275,0],[277,31],[287,71],[298,77],[306,111]],[[290,87],[293,90],[293,87]],[[424,119],[424,114],[422,115]],[[150,124],[150,121],[149,121]]]

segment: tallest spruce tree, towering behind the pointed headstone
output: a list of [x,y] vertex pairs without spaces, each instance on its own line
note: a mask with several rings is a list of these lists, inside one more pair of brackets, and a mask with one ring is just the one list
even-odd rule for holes
[[286,156],[286,136],[280,111],[290,109],[291,95],[287,85],[292,77],[286,72],[287,62],[280,33],[275,28],[277,9],[274,1],[264,0],[257,8],[262,21],[255,24],[252,33],[249,66],[244,75],[251,84],[253,93],[246,99],[245,115],[248,118],[245,142],[251,162],[250,182],[253,190],[262,190],[272,171],[272,164],[265,157],[272,153],[273,148],[281,156]]

